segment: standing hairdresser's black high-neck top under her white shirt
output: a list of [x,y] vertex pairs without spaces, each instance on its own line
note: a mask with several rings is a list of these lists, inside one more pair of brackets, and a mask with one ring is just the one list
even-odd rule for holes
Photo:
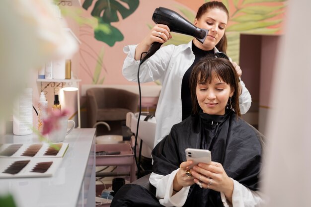
[[199,62],[201,58],[208,54],[214,54],[214,49],[205,51],[201,50],[197,46],[195,46],[192,42],[192,51],[195,56],[193,64],[190,68],[185,72],[182,83],[181,83],[181,105],[182,105],[182,119],[186,119],[188,116],[191,115],[192,112],[192,103],[191,103],[191,95],[190,95],[190,86],[189,86],[189,79],[191,71],[196,63]]

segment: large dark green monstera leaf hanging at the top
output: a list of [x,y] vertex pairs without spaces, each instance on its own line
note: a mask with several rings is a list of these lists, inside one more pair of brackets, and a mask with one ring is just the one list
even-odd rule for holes
[[[82,7],[87,10],[93,0],[85,0]],[[127,4],[127,7],[123,4]],[[96,40],[102,41],[112,47],[116,42],[124,39],[123,34],[111,22],[119,21],[118,13],[125,19],[138,7],[139,0],[97,0],[91,11],[91,15],[98,20],[98,26],[94,29]]]

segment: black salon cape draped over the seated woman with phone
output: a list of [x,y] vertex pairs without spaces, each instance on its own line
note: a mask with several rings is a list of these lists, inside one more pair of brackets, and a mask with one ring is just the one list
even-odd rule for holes
[[[153,172],[167,175],[186,161],[186,148],[209,149],[212,161],[223,165],[227,175],[250,190],[258,190],[262,147],[260,133],[227,110],[224,116],[202,111],[172,127],[154,148]],[[184,207],[222,207],[220,192],[190,187]]]

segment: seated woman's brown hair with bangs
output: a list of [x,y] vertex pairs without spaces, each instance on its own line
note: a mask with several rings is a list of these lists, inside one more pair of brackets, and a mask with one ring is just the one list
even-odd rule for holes
[[236,115],[241,116],[238,104],[239,86],[237,73],[229,60],[224,58],[214,58],[214,56],[202,58],[193,67],[191,72],[190,93],[192,100],[192,112],[197,114],[200,109],[196,94],[197,85],[211,83],[214,77],[222,79],[230,85],[231,90],[234,90],[233,96],[227,103],[227,107],[232,109]]

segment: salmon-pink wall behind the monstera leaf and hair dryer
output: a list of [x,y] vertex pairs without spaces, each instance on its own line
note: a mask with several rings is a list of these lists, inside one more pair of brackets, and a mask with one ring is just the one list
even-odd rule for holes
[[[92,36],[92,28],[80,27],[79,39],[82,41],[82,45],[80,47],[81,60],[78,76],[82,78],[81,84],[92,82],[90,74],[93,73],[96,66],[94,59],[101,49],[104,50],[104,66],[99,79],[105,77],[104,84],[137,84],[129,82],[122,75],[122,66],[126,57],[126,54],[123,53],[123,47],[129,44],[138,44],[148,34],[150,31],[148,24],[155,25],[152,14],[156,7],[174,8],[178,5],[180,4],[174,0],[141,0],[137,10],[132,15],[119,22],[112,23],[124,35],[124,40],[116,42],[113,47],[95,40]],[[90,18],[89,12],[84,10],[83,16]]]

